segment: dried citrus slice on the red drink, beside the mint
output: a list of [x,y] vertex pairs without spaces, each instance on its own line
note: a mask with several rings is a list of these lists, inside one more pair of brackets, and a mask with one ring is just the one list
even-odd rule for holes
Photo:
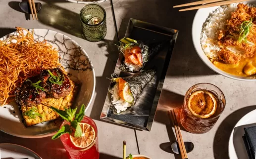
[[82,128],[83,134],[81,137],[74,137],[70,135],[71,142],[78,148],[87,148],[90,146],[95,140],[95,131],[93,126],[87,123],[79,123]]

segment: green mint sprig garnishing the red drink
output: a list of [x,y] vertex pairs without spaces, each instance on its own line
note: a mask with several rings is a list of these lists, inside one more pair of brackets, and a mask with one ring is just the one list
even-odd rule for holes
[[83,132],[82,132],[82,128],[79,125],[79,123],[84,118],[84,114],[85,114],[85,105],[84,104],[81,106],[81,109],[78,114],[76,114],[77,108],[75,108],[75,109],[69,108],[69,109],[65,109],[65,111],[58,110],[54,107],[51,107],[51,109],[54,110],[62,119],[65,119],[70,122],[70,125],[69,124],[63,125],[59,129],[59,131],[54,136],[52,136],[52,138],[51,138],[52,140],[55,140],[55,139],[59,138],[61,135],[66,134],[66,133],[71,134],[73,129],[75,129],[75,133],[74,133],[75,137],[82,136]]

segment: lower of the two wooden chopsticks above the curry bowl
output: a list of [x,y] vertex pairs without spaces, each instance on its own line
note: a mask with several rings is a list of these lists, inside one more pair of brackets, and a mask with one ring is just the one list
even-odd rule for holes
[[186,8],[186,9],[181,9],[179,11],[187,11],[187,10],[208,8],[208,7],[212,7],[212,6],[226,5],[226,4],[231,4],[231,3],[243,2],[243,1],[249,1],[249,0],[225,0],[225,1],[220,1],[220,2],[216,2],[216,3],[210,3],[210,4],[194,6],[194,7],[190,7],[190,8]]

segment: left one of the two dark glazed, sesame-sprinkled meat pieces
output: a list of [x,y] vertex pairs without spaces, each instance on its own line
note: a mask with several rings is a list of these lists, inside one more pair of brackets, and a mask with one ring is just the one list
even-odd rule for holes
[[41,89],[36,89],[31,82],[37,82],[38,77],[25,80],[22,85],[15,90],[15,101],[21,106],[33,106],[40,104],[46,97],[46,93]]

